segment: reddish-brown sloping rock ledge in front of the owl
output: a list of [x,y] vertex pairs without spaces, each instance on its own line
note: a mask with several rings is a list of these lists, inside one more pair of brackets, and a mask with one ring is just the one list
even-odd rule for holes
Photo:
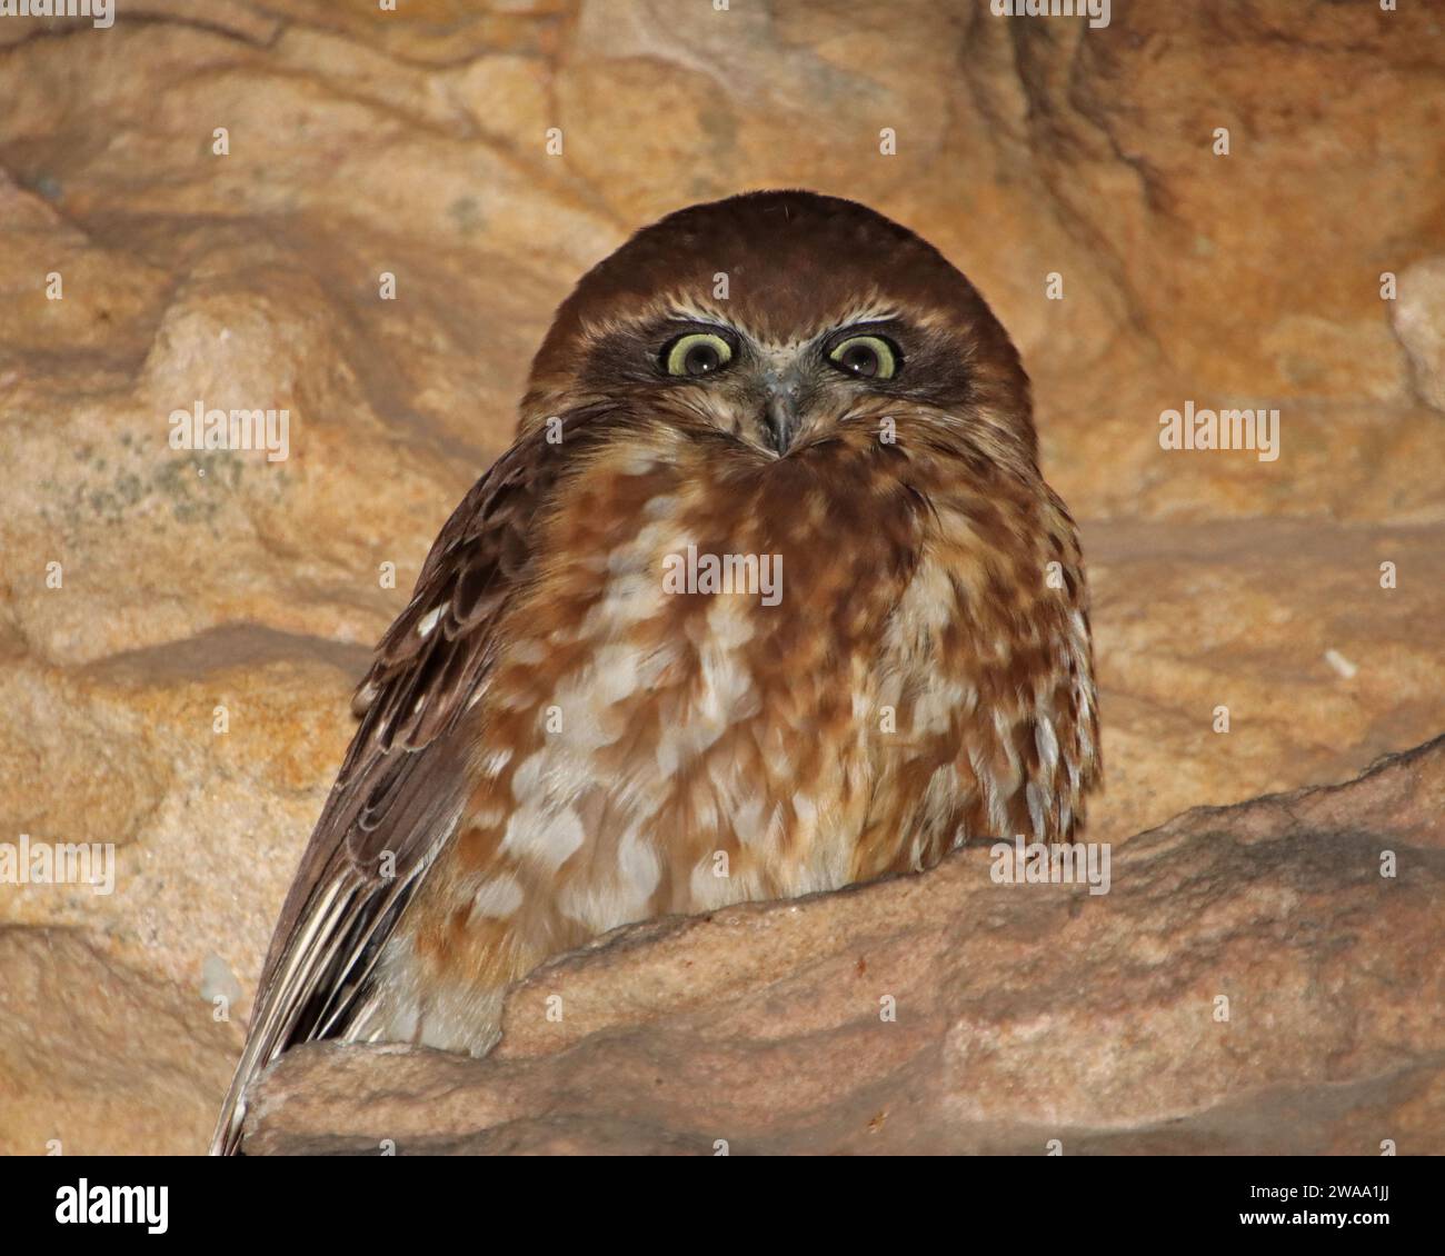
[[977,847],[620,929],[517,986],[488,1059],[282,1057],[246,1149],[1439,1155],[1442,806],[1445,737],[1140,834],[1103,895]]

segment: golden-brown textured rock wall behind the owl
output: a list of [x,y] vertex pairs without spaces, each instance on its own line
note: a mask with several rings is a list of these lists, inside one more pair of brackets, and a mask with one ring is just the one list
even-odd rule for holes
[[[400,9],[0,19],[0,841],[117,844],[113,895],[0,885],[0,1150],[204,1145],[370,645],[504,448],[555,302],[692,199],[867,201],[1014,334],[1091,558],[1095,840],[1348,779],[1441,731],[1439,14],[1120,3],[1087,30],[932,0]],[[1277,408],[1277,460],[1162,450],[1160,412],[1191,400]],[[288,409],[289,457],[172,450],[168,415],[197,402]],[[1237,954],[1267,950],[1248,860],[1201,843]],[[1286,838],[1270,850],[1328,948],[1364,911],[1354,890]],[[867,893],[945,895],[970,859]],[[1009,937],[1013,903],[977,911]],[[1121,906],[1114,945],[1149,954],[1166,919]],[[678,928],[701,926],[659,945]],[[1379,981],[1340,987],[1358,1015],[1383,954]],[[1006,993],[1013,971],[978,980]],[[238,996],[231,1023],[217,993]],[[1133,993],[1068,1015],[1113,1041]],[[1246,1042],[1253,1068],[1266,1042]],[[1402,1061],[1428,1054],[1412,1042]],[[1370,1068],[1350,1077],[1386,1075]],[[1191,1111],[1241,1093],[1224,1064],[1204,1078]],[[1046,1116],[978,1119],[1003,1123],[990,1145],[1032,1146],[1004,1126]]]

